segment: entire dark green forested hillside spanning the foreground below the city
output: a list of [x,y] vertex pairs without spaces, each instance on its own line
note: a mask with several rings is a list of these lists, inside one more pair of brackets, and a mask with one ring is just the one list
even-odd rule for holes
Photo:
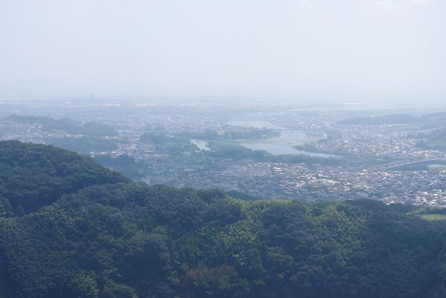
[[36,204],[0,214],[0,297],[446,297],[446,228],[408,207],[239,201],[0,148],[3,206]]

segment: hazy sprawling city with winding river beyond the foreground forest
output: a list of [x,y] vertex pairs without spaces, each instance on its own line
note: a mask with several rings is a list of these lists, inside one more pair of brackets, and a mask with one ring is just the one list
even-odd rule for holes
[[[249,199],[446,206],[446,151],[428,146],[446,121],[438,109],[99,100],[1,107],[2,140],[72,149],[150,185]],[[404,119],[391,123],[392,114]],[[87,129],[91,119],[103,127]],[[375,123],[354,123],[364,119]]]

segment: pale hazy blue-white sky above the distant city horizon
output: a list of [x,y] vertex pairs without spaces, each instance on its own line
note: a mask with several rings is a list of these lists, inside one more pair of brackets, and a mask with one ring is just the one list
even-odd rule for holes
[[0,0],[1,98],[446,102],[446,0]]

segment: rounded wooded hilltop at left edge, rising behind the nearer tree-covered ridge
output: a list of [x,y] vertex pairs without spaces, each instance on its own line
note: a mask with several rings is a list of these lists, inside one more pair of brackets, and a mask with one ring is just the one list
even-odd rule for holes
[[0,141],[0,212],[37,211],[84,187],[127,181],[89,157],[53,146]]

